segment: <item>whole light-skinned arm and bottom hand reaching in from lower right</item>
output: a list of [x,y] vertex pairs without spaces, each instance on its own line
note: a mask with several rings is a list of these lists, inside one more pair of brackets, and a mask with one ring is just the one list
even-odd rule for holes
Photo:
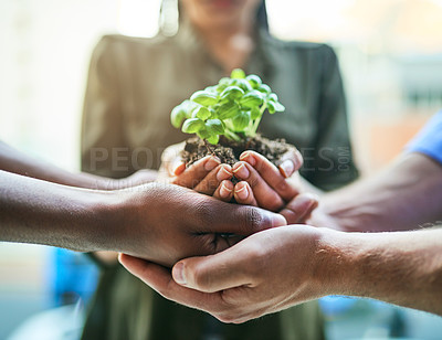
[[360,234],[288,225],[213,256],[180,261],[173,278],[131,256],[122,255],[120,262],[166,298],[224,322],[245,322],[332,294],[442,315],[442,230]]

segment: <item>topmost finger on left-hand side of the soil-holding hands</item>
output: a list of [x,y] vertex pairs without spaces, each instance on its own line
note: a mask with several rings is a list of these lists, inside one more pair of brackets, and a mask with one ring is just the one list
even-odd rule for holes
[[193,189],[206,176],[208,176],[210,171],[212,171],[219,164],[221,164],[221,161],[218,157],[206,156],[204,158],[196,161],[180,176],[173,179],[172,183]]

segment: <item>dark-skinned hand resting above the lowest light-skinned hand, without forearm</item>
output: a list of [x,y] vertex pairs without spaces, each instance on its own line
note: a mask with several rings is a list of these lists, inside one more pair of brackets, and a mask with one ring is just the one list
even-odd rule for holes
[[127,189],[117,201],[120,226],[115,248],[166,266],[227,248],[234,238],[225,234],[248,236],[286,224],[280,214],[171,184]]

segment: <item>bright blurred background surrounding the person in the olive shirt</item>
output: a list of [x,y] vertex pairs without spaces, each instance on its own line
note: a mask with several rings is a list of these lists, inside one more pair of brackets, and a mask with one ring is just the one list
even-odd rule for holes
[[[155,35],[159,6],[0,0],[0,139],[77,171],[92,49],[106,33]],[[442,108],[442,0],[269,0],[267,10],[276,36],[335,47],[362,176]],[[1,243],[0,339],[30,339],[29,329],[76,339],[97,275],[81,254]],[[423,312],[337,297],[322,306],[329,339],[441,339],[442,318]]]

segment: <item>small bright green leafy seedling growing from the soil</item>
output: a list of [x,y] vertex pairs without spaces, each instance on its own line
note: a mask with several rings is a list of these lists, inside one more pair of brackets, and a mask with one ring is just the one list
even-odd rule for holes
[[170,119],[176,128],[182,124],[183,132],[215,145],[221,135],[236,141],[254,137],[265,109],[274,114],[285,108],[257,75],[245,76],[235,68],[230,78],[221,78],[175,107]]

